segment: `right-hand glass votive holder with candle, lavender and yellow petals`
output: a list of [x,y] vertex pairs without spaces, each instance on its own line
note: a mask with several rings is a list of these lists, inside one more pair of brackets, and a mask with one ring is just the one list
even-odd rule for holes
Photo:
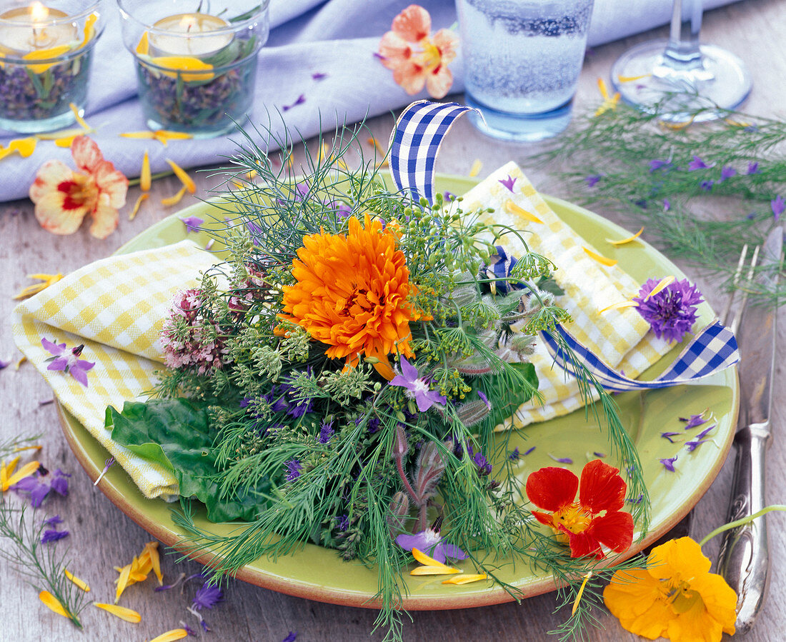
[[270,32],[269,2],[210,2],[211,13],[202,13],[195,0],[118,0],[148,127],[212,138],[244,119]]

